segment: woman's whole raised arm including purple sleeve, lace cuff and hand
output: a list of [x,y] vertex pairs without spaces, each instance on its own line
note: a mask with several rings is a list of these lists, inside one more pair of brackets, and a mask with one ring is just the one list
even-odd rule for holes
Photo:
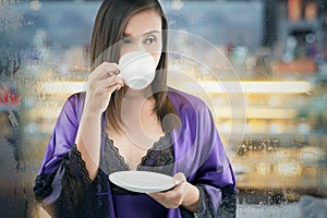
[[86,97],[71,96],[57,120],[34,187],[35,198],[55,216],[88,211],[96,198],[92,183],[98,174],[101,114],[122,82],[109,75],[111,68],[116,64],[97,68],[89,76]]

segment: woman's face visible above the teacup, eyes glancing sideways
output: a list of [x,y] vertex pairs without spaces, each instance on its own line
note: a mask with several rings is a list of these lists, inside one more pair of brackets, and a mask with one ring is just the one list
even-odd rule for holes
[[128,21],[120,43],[120,57],[131,51],[146,51],[155,58],[158,65],[162,49],[161,26],[161,16],[155,10],[133,15]]

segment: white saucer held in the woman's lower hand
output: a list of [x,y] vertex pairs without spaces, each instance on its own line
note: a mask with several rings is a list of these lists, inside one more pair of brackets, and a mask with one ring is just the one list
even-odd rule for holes
[[113,172],[109,180],[120,187],[140,193],[162,192],[174,186],[172,177],[149,171]]

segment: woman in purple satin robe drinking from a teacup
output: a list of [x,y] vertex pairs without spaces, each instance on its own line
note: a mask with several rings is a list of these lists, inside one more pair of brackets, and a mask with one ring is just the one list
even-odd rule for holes
[[[53,217],[234,217],[235,181],[206,105],[167,87],[167,20],[157,0],[106,0],[93,29],[85,93],[65,102],[34,187]],[[143,50],[157,71],[141,90],[117,65]],[[108,180],[122,170],[173,177],[160,193]]]

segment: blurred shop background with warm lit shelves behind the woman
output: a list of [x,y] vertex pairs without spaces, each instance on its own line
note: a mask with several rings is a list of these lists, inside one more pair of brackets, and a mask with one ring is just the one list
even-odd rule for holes
[[[327,195],[327,2],[161,2],[170,28],[184,33],[170,37],[169,85],[213,110],[237,174],[238,217],[300,217],[302,196]],[[47,217],[34,180],[64,100],[87,78],[99,4],[0,1],[4,217]]]

